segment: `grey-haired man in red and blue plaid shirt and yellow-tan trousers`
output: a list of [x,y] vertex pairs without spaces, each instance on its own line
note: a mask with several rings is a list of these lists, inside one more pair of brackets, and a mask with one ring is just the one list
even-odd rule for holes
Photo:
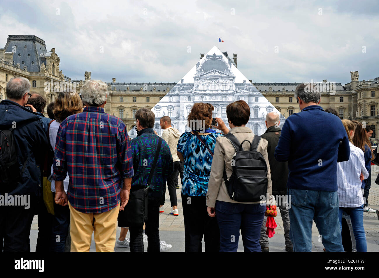
[[114,251],[118,212],[128,202],[133,177],[130,142],[125,124],[104,112],[104,82],[89,80],[80,93],[87,107],[67,117],[56,137],[55,202],[70,208],[71,251],[89,251],[93,232],[96,251]]

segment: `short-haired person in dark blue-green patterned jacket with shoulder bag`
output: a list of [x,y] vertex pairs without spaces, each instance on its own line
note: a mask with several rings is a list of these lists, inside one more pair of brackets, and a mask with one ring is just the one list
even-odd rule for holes
[[[174,166],[172,155],[166,141],[161,140],[161,148],[155,169],[152,169],[153,159],[158,148],[159,137],[154,134],[153,125],[155,115],[148,108],[139,109],[136,114],[137,137],[131,142],[133,156],[134,176],[132,179],[133,190],[146,187],[150,171],[153,171],[152,182],[149,185],[149,198],[147,206],[147,251],[160,252],[167,249],[159,240],[159,206],[166,187],[167,178],[172,174]],[[127,208],[125,208],[127,209]],[[143,252],[143,227],[129,227],[130,251]],[[166,247],[166,248],[164,248]]]

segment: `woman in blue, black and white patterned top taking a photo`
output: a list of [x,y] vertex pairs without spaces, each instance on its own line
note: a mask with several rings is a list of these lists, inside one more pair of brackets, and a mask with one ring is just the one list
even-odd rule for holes
[[[182,204],[185,229],[185,251],[202,252],[204,236],[205,251],[219,252],[220,232],[215,218],[207,213],[208,180],[216,138],[222,134],[211,129],[214,107],[209,103],[195,103],[188,115],[191,132],[183,133],[178,141],[177,154],[184,161]],[[205,146],[196,137],[207,145]]]

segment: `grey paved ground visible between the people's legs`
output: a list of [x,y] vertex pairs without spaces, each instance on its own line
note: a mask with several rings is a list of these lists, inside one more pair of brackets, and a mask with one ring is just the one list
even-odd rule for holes
[[[373,169],[374,171],[374,169]],[[371,176],[371,189],[370,195],[368,197],[369,206],[374,210],[379,210],[379,185],[375,183],[375,179],[377,174],[375,172],[372,173]],[[184,252],[184,219],[183,219],[183,209],[182,209],[182,196],[181,196],[181,186],[179,185],[179,189],[177,189],[177,199],[178,199],[178,210],[179,216],[174,216],[169,214],[171,211],[170,207],[170,197],[168,194],[168,190],[166,189],[166,201],[164,205],[164,213],[160,214],[160,240],[166,241],[167,244],[171,244],[172,248],[168,250],[168,252]],[[269,239],[269,249],[270,252],[285,252],[285,244],[284,244],[284,230],[283,230],[283,222],[280,217],[279,209],[278,215],[275,219],[277,223],[277,228],[275,229],[275,235],[273,238]],[[365,227],[366,232],[366,240],[367,240],[367,250],[369,252],[378,252],[379,251],[379,221],[376,213],[364,213],[363,217],[363,225]],[[117,228],[117,238],[120,233],[120,228]],[[37,216],[34,217],[31,234],[30,234],[30,244],[31,251],[34,251],[36,248],[38,235],[38,221]],[[323,245],[318,241],[318,230],[316,228],[315,223],[313,222],[312,226],[312,251],[313,252],[323,252]],[[129,237],[129,234],[127,235]],[[147,242],[144,243],[145,251],[147,250]],[[203,251],[204,251],[204,241],[203,241]],[[95,251],[95,244],[92,236],[92,245],[91,251]],[[129,248],[121,248],[116,247],[116,252],[129,252]],[[243,251],[242,238],[240,236],[238,251]]]

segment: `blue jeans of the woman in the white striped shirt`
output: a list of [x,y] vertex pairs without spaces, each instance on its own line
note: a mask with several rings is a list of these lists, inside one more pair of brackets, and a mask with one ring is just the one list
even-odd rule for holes
[[339,208],[338,218],[340,219],[340,229],[342,230],[342,213],[350,216],[353,226],[354,238],[357,252],[367,252],[367,242],[365,228],[363,228],[363,205],[358,208]]

